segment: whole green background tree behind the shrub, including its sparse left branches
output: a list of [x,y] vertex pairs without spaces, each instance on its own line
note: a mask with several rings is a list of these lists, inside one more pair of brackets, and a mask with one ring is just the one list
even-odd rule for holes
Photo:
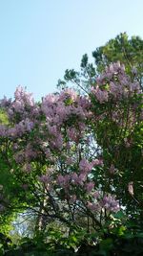
[[[139,81],[143,86],[143,40],[139,36],[129,36],[121,33],[110,39],[104,46],[96,48],[92,52],[94,64],[89,62],[88,55],[81,59],[81,70],[67,69],[64,80],[58,81],[58,86],[67,86],[67,82],[75,84],[78,89],[88,90],[89,86],[95,82],[105,67],[112,62],[120,61],[126,67],[126,72]],[[84,91],[83,90],[83,91]]]

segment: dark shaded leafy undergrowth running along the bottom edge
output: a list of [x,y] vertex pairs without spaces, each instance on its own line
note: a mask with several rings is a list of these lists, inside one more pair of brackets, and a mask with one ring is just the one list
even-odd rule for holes
[[[54,245],[54,247],[53,247]],[[87,239],[80,241],[75,252],[70,245],[44,243],[38,239],[25,238],[19,246],[3,244],[5,256],[142,256],[143,233],[131,235],[129,232],[119,236],[117,234],[104,234],[104,238],[97,244],[88,244]]]

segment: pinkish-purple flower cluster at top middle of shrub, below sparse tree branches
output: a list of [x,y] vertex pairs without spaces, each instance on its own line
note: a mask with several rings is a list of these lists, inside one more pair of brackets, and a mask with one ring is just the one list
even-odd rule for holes
[[[71,101],[66,102],[67,99]],[[88,114],[88,106],[89,101],[84,96],[78,96],[72,90],[65,90],[59,95],[43,98],[41,109],[51,125],[60,126],[73,116],[84,120]]]

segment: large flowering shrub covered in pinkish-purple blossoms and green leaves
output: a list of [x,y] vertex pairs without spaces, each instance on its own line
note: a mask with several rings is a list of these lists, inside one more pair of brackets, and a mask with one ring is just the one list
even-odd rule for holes
[[88,95],[68,88],[36,104],[19,86],[0,106],[9,117],[0,125],[0,156],[12,177],[5,211],[14,209],[17,187],[19,207],[37,214],[39,228],[84,222],[90,232],[123,207],[141,217],[142,91],[123,65],[107,67]]

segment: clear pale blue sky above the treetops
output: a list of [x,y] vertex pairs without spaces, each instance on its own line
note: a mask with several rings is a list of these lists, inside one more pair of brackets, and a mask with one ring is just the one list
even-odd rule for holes
[[0,99],[21,84],[39,100],[121,32],[143,38],[143,0],[0,0]]

